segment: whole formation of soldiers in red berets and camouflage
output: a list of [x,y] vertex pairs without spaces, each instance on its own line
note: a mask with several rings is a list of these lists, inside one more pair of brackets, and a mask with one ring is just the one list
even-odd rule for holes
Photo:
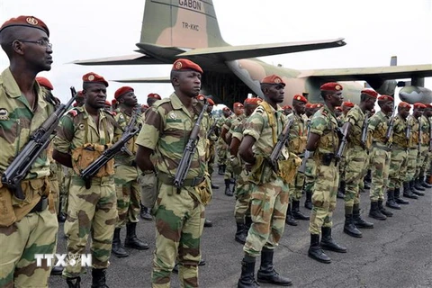
[[[386,220],[410,203],[405,198],[420,200],[432,187],[431,104],[394,106],[392,96],[372,89],[361,91],[359,104],[344,102],[343,85],[329,82],[320,86],[322,103],[304,93],[281,106],[285,83],[269,75],[263,98],[234,103],[232,112],[225,106],[216,117],[213,99],[200,94],[205,71],[179,58],[167,97],[148,94],[141,105],[133,87],[122,86],[109,102],[108,82],[89,72],[69,109],[37,77],[52,63],[45,23],[13,18],[1,26],[0,44],[10,60],[0,76],[1,287],[46,287],[50,274],[81,287],[87,245],[92,287],[108,287],[112,255],[149,248],[136,234],[139,216],[156,228],[152,287],[170,287],[173,271],[183,287],[198,287],[203,227],[212,225],[205,208],[220,188],[211,181],[214,166],[227,199],[235,196],[234,239],[244,252],[238,287],[293,284],[276,272],[274,256],[285,225],[298,220],[309,221],[309,257],[331,263],[324,250],[347,253],[332,233],[337,198],[345,204],[343,231],[362,238],[374,223],[361,216],[360,193],[370,189],[368,216]],[[47,127],[56,128],[52,141],[37,143]],[[32,153],[30,144],[40,150]],[[10,171],[23,171],[18,183]],[[64,269],[34,257],[56,253],[58,222],[67,238]]]

